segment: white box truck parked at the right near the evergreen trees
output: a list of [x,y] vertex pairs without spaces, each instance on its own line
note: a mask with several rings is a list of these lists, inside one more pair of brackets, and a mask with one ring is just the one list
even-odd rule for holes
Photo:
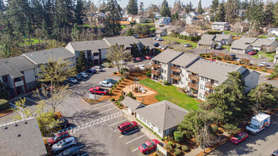
[[251,118],[251,123],[246,126],[248,133],[257,135],[261,130],[264,130],[269,126],[270,116],[265,113],[258,113],[256,116]]

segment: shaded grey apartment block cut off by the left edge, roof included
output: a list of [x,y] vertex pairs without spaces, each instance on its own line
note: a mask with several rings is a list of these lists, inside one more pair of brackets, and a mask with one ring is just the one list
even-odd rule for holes
[[0,81],[4,82],[11,96],[25,94],[36,86],[37,66],[26,57],[17,56],[0,60]]

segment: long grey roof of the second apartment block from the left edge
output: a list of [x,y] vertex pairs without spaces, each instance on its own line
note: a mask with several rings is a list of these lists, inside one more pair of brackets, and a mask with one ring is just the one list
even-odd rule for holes
[[36,52],[24,53],[23,56],[28,58],[31,62],[35,63],[35,65],[40,65],[48,63],[50,58],[52,61],[57,61],[59,59],[74,57],[74,54],[66,48],[54,48],[50,50],[40,50]]

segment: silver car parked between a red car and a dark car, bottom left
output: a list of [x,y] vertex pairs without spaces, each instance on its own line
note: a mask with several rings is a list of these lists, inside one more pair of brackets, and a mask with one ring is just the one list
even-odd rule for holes
[[77,140],[75,140],[74,137],[65,138],[63,140],[60,140],[58,143],[52,145],[51,150],[54,153],[59,153],[63,150],[66,150],[69,147],[74,147],[74,145],[77,145]]

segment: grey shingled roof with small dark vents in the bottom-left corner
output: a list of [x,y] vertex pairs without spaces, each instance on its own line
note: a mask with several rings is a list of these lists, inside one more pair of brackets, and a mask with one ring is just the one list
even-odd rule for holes
[[1,155],[47,155],[36,118],[13,121],[0,127]]

